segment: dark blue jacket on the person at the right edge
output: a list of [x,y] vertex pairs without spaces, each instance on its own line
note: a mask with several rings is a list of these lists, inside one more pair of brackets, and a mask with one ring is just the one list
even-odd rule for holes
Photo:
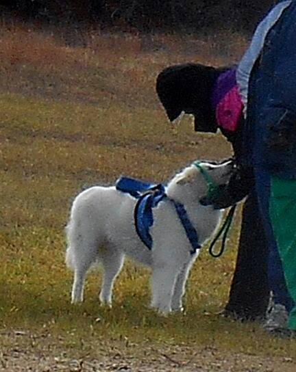
[[243,163],[296,178],[296,1],[269,30],[249,79]]

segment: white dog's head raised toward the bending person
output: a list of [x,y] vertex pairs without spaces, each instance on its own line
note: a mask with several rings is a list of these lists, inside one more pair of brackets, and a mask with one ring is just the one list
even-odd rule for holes
[[214,161],[198,161],[185,168],[175,177],[176,185],[191,185],[198,197],[205,196],[213,187],[225,185],[234,172],[234,161],[227,159],[216,163]]

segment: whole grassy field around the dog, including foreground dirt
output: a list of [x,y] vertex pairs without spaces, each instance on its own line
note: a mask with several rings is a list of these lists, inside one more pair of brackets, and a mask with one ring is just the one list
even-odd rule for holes
[[[72,43],[69,43],[72,40]],[[188,280],[186,312],[148,310],[149,272],[126,263],[112,310],[70,304],[64,226],[74,196],[121,175],[167,181],[193,159],[230,155],[222,137],[173,129],[154,92],[180,62],[229,64],[246,40],[206,36],[0,32],[0,371],[295,371],[296,343],[258,323],[223,319],[239,215],[227,252],[206,248]]]

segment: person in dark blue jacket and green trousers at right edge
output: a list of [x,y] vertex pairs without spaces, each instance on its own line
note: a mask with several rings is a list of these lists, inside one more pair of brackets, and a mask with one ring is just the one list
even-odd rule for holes
[[240,164],[254,175],[268,246],[273,306],[264,328],[288,336],[296,331],[295,17],[296,1],[279,1],[256,28],[236,70],[245,107]]

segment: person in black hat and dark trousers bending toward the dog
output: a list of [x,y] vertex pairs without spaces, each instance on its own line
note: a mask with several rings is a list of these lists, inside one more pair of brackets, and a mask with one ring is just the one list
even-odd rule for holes
[[[194,116],[195,131],[217,133],[220,129],[232,144],[236,162],[240,162],[244,119],[235,67],[214,68],[201,64],[169,66],[158,75],[156,92],[171,122],[184,112]],[[258,319],[265,316],[269,304],[267,245],[253,174],[250,170],[240,174],[244,175],[243,179],[239,183],[235,179],[232,182],[232,195],[224,198],[223,203],[219,200],[219,207],[227,207],[247,196],[242,212],[236,268],[223,314],[236,319]],[[240,178],[240,175],[236,177]]]

